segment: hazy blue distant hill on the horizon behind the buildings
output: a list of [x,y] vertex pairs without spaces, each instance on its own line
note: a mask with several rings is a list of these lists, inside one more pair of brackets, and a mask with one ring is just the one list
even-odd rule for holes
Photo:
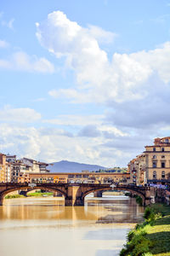
[[59,162],[51,163],[48,166],[48,170],[50,172],[82,172],[86,171],[98,171],[99,169],[107,169],[104,166],[96,166],[96,165],[87,165],[87,164],[80,164],[77,162],[70,162],[67,160],[62,160]]

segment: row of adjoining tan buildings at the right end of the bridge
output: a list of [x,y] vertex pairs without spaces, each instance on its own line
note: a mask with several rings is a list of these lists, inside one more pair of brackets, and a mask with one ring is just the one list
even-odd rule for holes
[[130,183],[170,183],[170,137],[156,138],[154,145],[145,146],[128,164]]

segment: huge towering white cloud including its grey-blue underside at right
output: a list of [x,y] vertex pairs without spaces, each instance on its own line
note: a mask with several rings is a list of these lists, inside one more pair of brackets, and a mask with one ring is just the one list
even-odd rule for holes
[[102,35],[109,37],[95,26],[79,26],[59,11],[38,24],[39,42],[57,57],[65,56],[77,79],[75,88],[50,90],[49,95],[105,104],[110,108],[105,121],[121,131],[134,127],[138,133],[142,127],[150,132],[151,127],[169,125],[170,42],[148,51],[114,53],[110,61],[99,46]]

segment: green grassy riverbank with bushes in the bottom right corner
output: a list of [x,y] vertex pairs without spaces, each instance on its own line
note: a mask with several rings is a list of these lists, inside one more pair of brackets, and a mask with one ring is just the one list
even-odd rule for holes
[[121,256],[170,255],[170,206],[146,207],[144,223],[137,224],[127,235]]

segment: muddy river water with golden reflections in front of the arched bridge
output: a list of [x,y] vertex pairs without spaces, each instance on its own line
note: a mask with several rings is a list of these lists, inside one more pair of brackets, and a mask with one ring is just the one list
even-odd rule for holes
[[88,197],[84,207],[62,198],[4,200],[0,207],[1,256],[116,256],[143,207],[126,196]]

